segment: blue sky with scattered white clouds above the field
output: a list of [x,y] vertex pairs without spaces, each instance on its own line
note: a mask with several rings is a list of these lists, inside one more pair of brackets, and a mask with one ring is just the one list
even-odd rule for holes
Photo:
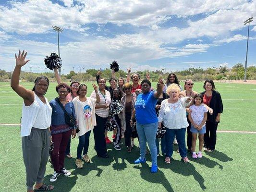
[[[58,54],[62,72],[110,68],[181,71],[256,66],[255,0],[0,0],[0,69],[12,71],[14,53],[27,51],[23,71],[49,71]],[[31,68],[30,68],[31,67]],[[74,67],[74,68],[73,68]]]

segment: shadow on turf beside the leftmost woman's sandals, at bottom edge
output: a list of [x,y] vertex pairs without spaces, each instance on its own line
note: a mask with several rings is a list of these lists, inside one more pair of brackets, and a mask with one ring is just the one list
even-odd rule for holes
[[[45,176],[44,180],[49,181],[52,175]],[[64,175],[60,175],[58,177],[58,180],[54,183],[50,183],[54,186],[55,192],[70,192],[73,188],[73,186],[76,184],[77,175],[71,175],[69,177],[66,177]]]

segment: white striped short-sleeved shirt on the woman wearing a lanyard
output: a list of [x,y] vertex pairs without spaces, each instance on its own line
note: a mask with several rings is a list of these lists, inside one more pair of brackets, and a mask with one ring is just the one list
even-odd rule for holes
[[[105,104],[110,105],[110,102],[111,102],[110,92],[105,90],[105,94],[106,94],[105,96],[102,95],[99,90],[98,90],[98,93],[100,97],[100,102],[97,103],[97,105],[105,105]],[[95,91],[92,92],[91,97],[96,99]],[[109,117],[109,108],[96,108],[95,113],[102,118]]]

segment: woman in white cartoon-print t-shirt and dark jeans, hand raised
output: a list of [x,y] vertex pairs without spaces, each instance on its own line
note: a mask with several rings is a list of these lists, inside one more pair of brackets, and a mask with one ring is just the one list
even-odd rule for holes
[[[77,97],[73,99],[75,108],[76,119],[78,121],[79,132],[77,136],[79,138],[79,144],[77,146],[75,165],[77,168],[83,168],[83,159],[85,163],[90,162],[90,157],[87,155],[89,148],[89,138],[92,129],[96,126],[95,106],[100,101],[98,94],[98,87],[95,84],[93,89],[96,93],[96,99],[92,97],[86,97],[87,85],[80,84],[77,90]],[[82,156],[83,152],[83,156]]]

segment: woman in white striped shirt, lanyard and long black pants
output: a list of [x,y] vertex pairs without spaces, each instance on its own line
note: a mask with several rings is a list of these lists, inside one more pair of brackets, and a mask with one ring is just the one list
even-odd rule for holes
[[105,140],[105,127],[109,117],[109,105],[111,102],[110,92],[105,90],[106,79],[99,78],[98,80],[98,93],[92,92],[91,97],[96,98],[99,94],[100,102],[96,104],[96,122],[97,125],[93,129],[95,150],[99,157],[108,158],[107,145]]

